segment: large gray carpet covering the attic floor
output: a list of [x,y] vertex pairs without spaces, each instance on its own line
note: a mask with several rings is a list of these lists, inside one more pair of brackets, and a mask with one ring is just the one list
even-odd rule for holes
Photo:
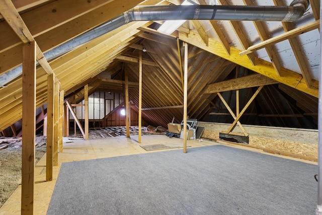
[[220,145],[63,163],[47,214],[315,214],[316,173]]

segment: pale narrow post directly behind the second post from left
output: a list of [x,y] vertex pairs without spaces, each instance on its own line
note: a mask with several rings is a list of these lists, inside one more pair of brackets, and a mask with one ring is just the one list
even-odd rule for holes
[[58,166],[58,130],[59,130],[59,82],[55,79],[54,87],[54,144],[53,144],[53,165]]

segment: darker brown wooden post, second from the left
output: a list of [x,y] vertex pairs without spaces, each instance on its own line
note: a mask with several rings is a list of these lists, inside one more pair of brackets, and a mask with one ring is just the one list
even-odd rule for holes
[[46,181],[52,181],[54,145],[54,74],[47,77]]

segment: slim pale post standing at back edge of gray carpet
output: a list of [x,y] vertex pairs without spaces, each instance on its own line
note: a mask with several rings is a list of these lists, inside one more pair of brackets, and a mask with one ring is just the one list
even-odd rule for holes
[[187,153],[187,107],[188,107],[188,43],[184,42],[184,93],[183,93],[183,153]]

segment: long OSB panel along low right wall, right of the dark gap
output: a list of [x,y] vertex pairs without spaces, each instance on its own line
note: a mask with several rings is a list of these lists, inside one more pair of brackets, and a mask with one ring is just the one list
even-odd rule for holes
[[316,144],[306,144],[304,142],[250,136],[249,145],[263,149],[302,155],[310,158],[317,158]]

